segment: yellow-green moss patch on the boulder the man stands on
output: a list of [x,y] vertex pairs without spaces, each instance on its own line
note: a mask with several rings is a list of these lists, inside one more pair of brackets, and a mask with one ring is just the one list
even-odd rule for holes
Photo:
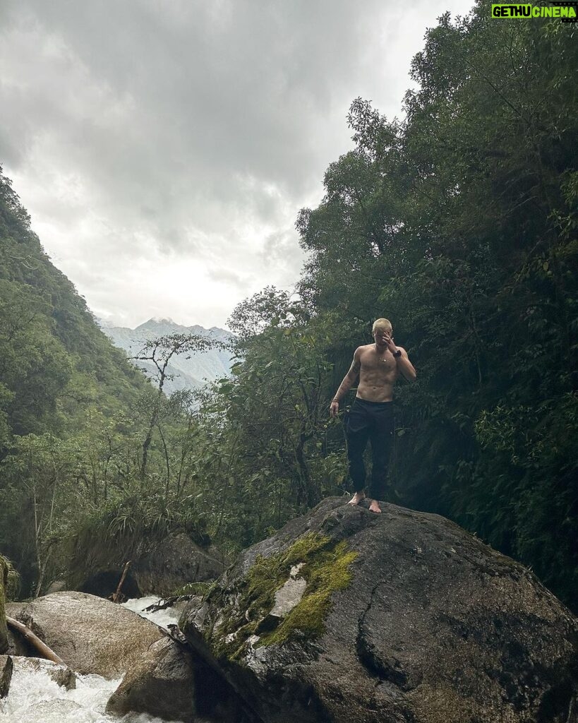
[[[322,636],[331,596],[350,585],[350,565],[355,557],[357,552],[348,549],[345,542],[315,533],[301,536],[285,552],[257,557],[232,589],[215,591],[217,597],[212,602],[220,607],[221,615],[208,636],[215,654],[230,660],[244,656],[247,640],[256,634],[275,604],[275,593],[288,581],[291,568],[300,563],[300,575],[307,583],[301,601],[276,630],[264,633],[256,644],[282,645],[299,636]],[[228,599],[233,602],[227,604]]]

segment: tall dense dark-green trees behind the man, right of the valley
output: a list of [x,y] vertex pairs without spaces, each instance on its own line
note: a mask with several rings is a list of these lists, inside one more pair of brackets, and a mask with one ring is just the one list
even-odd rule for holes
[[355,100],[355,149],[298,216],[298,294],[239,305],[240,360],[202,412],[228,536],[342,488],[327,407],[386,316],[418,369],[397,390],[391,499],[475,531],[576,609],[574,35],[483,3],[428,33],[403,121]]

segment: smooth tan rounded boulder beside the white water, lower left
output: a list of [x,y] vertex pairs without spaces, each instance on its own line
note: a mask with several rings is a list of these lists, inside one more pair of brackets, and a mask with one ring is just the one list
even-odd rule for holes
[[33,602],[11,603],[7,610],[83,675],[118,677],[162,637],[149,620],[82,592],[55,592]]

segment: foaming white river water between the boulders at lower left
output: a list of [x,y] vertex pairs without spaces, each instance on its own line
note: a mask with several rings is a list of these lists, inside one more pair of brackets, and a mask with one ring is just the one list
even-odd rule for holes
[[[176,623],[178,612],[168,608],[159,612],[143,612],[144,607],[158,602],[158,597],[129,600],[124,607],[148,617],[165,628]],[[100,675],[77,675],[75,690],[66,690],[51,680],[46,672],[17,670],[14,667],[7,698],[0,701],[0,723],[118,723],[118,718],[105,714],[108,698],[118,680],[105,680]],[[146,714],[129,714],[124,723],[164,723]]]

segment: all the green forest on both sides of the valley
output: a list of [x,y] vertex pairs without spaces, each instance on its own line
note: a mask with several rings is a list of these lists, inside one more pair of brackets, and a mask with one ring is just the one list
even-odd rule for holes
[[[329,401],[386,316],[418,371],[397,389],[391,500],[454,519],[578,609],[572,28],[479,3],[428,32],[401,121],[355,100],[355,148],[298,215],[298,293],[238,305],[233,375],[197,400],[166,399],[111,348],[2,181],[0,549],[25,581],[176,529],[238,549],[345,489]],[[143,354],[161,371],[178,343],[194,340]]]

